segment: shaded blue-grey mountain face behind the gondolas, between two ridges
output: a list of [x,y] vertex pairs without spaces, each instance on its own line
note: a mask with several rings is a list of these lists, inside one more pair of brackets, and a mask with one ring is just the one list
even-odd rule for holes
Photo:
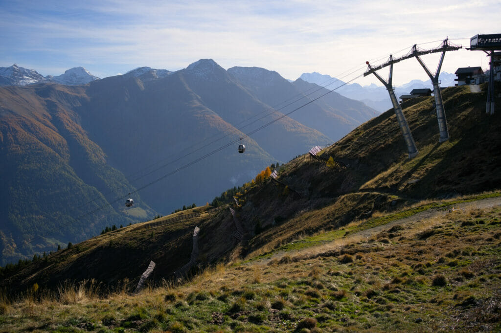
[[[107,78],[91,84],[87,93],[89,100],[79,109],[83,126],[107,152],[109,163],[130,175],[138,188],[243,135],[207,107],[179,72],[144,83],[130,77]],[[204,204],[254,176],[261,165],[276,162],[253,139],[245,144],[244,155],[238,156],[235,144],[183,168],[180,177],[152,184],[142,197],[155,210],[170,213],[185,204]]]

